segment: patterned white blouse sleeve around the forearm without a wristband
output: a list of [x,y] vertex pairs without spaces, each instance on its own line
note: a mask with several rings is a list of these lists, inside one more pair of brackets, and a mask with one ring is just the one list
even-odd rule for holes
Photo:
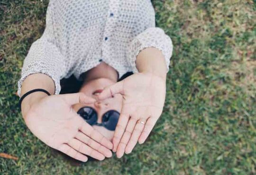
[[171,38],[165,34],[164,30],[159,27],[149,27],[142,33],[138,34],[129,44],[128,62],[134,73],[137,73],[136,57],[140,51],[147,47],[155,47],[162,51],[165,56],[167,72],[169,70],[170,58],[173,53],[173,43]]

